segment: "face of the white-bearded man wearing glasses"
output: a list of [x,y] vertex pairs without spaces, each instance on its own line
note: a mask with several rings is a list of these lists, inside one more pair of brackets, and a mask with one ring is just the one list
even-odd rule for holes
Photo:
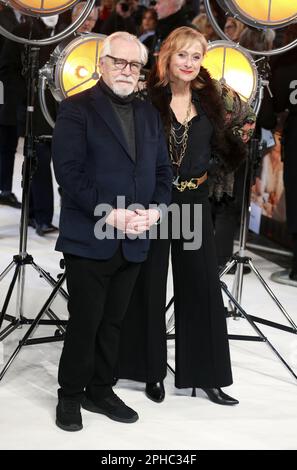
[[[102,57],[100,60],[100,70],[102,78],[114,93],[120,96],[128,96],[133,93],[139,80],[140,70],[131,67],[118,65],[116,59],[124,59],[135,64],[140,63],[140,49],[137,43],[123,39],[114,39],[111,42],[110,57]],[[131,69],[132,68],[132,69]]]

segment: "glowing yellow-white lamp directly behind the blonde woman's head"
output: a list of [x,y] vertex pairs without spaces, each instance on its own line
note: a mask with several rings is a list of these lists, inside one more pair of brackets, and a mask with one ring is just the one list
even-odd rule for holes
[[214,41],[210,43],[202,65],[214,79],[233,88],[244,101],[253,102],[258,87],[258,72],[251,55],[240,46],[227,41]]

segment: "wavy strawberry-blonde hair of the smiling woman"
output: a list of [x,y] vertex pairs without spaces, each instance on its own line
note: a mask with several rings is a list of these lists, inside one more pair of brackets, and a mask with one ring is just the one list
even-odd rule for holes
[[[157,77],[156,86],[166,86],[169,83],[169,64],[173,54],[180,51],[183,47],[199,42],[202,46],[203,56],[207,51],[207,41],[203,34],[194,28],[182,26],[175,29],[163,42],[157,61]],[[204,87],[204,80],[198,75],[191,83],[193,89],[201,89]]]

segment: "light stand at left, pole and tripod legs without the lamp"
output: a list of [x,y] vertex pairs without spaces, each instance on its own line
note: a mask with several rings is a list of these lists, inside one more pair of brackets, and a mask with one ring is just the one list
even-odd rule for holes
[[[26,344],[42,343],[48,341],[60,341],[63,339],[65,333],[64,326],[67,324],[65,320],[59,320],[55,313],[51,310],[51,303],[55,296],[60,293],[64,299],[68,299],[66,291],[62,289],[62,284],[65,279],[65,274],[57,282],[49,273],[43,268],[38,266],[31,255],[27,253],[27,234],[28,234],[28,216],[29,216],[29,197],[30,197],[30,183],[32,178],[32,170],[35,164],[35,143],[38,141],[33,135],[33,112],[34,112],[34,98],[35,89],[38,77],[38,57],[39,48],[27,46],[27,70],[28,70],[28,93],[27,93],[27,114],[26,114],[26,134],[25,134],[25,145],[24,145],[24,163],[23,163],[23,174],[22,174],[22,210],[21,210],[21,222],[20,222],[20,242],[19,242],[19,253],[13,257],[13,261],[4,269],[0,274],[0,281],[15,268],[14,275],[8,292],[6,294],[4,304],[0,313],[0,328],[2,327],[3,321],[7,320],[10,322],[0,332],[0,341],[10,335],[16,328],[22,325],[31,325],[24,338],[20,341],[19,346],[16,348],[12,356],[9,358],[3,370],[0,372],[0,380],[3,378],[8,367],[19,353],[22,346]],[[39,312],[38,316],[32,320],[24,316],[23,313],[23,301],[24,301],[24,289],[25,289],[25,274],[27,266],[32,266],[40,277],[54,288],[49,299],[45,302],[43,308]],[[7,309],[11,300],[14,288],[17,287],[16,292],[16,314],[15,316],[7,315]],[[49,317],[49,320],[41,320],[43,314]],[[58,333],[53,337],[38,338],[36,340],[29,340],[29,336],[36,328],[37,324],[45,325],[56,325],[58,327]]]

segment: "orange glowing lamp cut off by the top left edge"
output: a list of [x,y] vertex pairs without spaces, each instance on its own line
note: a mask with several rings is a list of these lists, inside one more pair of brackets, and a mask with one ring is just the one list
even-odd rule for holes
[[24,15],[47,16],[72,8],[79,0],[10,0],[6,2]]

